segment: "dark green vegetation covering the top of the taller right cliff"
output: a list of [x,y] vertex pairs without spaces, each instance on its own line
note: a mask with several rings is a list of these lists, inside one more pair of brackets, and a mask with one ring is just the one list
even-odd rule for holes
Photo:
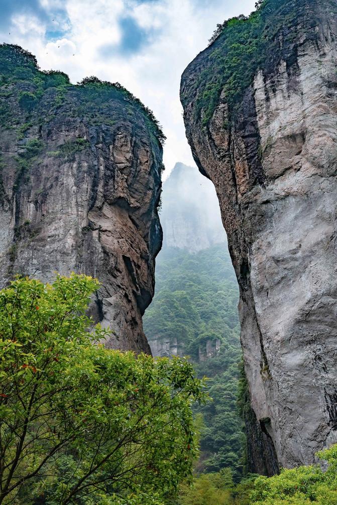
[[[282,52],[278,35],[290,44],[298,38],[299,1],[306,4],[302,12],[310,20],[310,27],[315,26],[318,14],[310,11],[310,0],[261,0],[249,17],[240,15],[217,25],[206,49],[207,64],[192,86],[197,91],[195,117],[201,118],[203,126],[212,118],[221,92],[233,116],[256,72],[262,69],[268,73],[277,66]],[[337,12],[335,3],[331,3],[331,9]],[[274,47],[272,62],[266,58],[270,46]],[[189,95],[192,90],[188,90]],[[181,99],[184,103],[186,98],[182,95]]]

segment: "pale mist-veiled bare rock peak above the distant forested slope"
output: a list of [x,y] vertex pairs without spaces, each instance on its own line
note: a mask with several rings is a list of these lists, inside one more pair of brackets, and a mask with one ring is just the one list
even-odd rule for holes
[[163,184],[163,247],[198,252],[226,242],[213,184],[197,168],[176,163]]

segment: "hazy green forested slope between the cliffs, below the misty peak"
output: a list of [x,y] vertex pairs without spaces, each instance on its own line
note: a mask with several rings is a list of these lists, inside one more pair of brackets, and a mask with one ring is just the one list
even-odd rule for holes
[[[204,424],[197,470],[230,468],[236,481],[243,474],[245,447],[236,407],[241,358],[237,303],[225,244],[197,254],[166,248],[157,260],[156,295],[144,318],[150,344],[176,338],[178,354],[190,356],[198,376],[209,378],[214,401],[197,410]],[[205,359],[207,342],[211,356]]]

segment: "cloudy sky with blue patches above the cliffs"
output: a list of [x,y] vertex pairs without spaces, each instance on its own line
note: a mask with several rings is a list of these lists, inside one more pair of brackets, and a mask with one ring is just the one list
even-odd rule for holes
[[254,10],[256,0],[0,0],[0,41],[33,53],[41,70],[71,82],[120,82],[153,110],[167,140],[168,176],[194,165],[179,100],[180,76],[217,23]]

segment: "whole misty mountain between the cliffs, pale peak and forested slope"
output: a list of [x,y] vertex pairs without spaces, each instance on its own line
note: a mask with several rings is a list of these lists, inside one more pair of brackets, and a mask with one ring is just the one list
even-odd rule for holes
[[239,293],[218,199],[197,168],[177,163],[162,201],[164,243],[144,330],[153,356],[189,356],[198,377],[209,378],[214,402],[195,411],[204,425],[198,472],[227,468],[239,480],[246,443],[236,409]]

